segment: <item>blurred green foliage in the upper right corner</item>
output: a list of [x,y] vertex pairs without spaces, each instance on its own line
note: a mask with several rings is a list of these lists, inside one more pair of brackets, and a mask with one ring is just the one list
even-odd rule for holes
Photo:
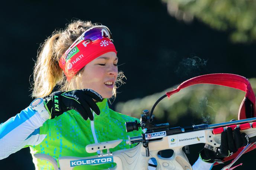
[[191,22],[193,17],[218,30],[228,30],[233,42],[256,39],[256,0],[162,0],[169,13]]

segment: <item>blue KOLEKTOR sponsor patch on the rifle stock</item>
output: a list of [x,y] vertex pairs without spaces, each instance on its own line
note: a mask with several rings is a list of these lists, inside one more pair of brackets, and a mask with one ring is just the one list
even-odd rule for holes
[[79,166],[79,165],[96,165],[113,162],[113,157],[103,157],[103,158],[92,158],[92,159],[80,159],[70,161],[70,167]]

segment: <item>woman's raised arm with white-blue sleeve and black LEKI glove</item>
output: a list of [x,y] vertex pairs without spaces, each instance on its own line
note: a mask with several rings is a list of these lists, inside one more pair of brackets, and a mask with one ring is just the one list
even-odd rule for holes
[[0,124],[0,160],[26,145],[33,146],[41,143],[46,135],[39,135],[39,127],[48,118],[54,118],[65,111],[74,109],[85,120],[88,117],[93,120],[91,109],[97,115],[100,114],[100,110],[93,99],[96,101],[103,100],[102,96],[92,89],[54,92],[48,98],[35,99],[28,108]]

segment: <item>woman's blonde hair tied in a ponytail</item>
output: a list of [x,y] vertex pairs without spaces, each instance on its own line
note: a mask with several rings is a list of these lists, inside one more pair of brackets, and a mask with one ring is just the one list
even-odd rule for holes
[[[77,82],[78,78],[83,73],[83,69],[68,82],[58,62],[63,53],[84,31],[97,25],[97,23],[93,24],[90,21],[84,22],[75,20],[68,24],[65,30],[55,30],[52,35],[45,40],[38,50],[38,56],[33,71],[32,97],[45,97],[51,94],[56,86],[60,91],[68,91],[80,87]],[[116,85],[124,83],[122,78],[125,78],[124,73],[118,72],[118,78],[113,88],[113,97],[116,96],[116,89],[118,88]]]

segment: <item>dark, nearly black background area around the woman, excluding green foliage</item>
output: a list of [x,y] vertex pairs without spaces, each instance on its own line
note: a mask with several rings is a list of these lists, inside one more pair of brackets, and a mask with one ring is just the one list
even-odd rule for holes
[[[154,94],[206,73],[255,77],[255,42],[234,44],[228,31],[214,30],[196,19],[190,24],[178,21],[167,13],[166,4],[160,0],[9,2],[1,5],[0,19],[0,122],[30,104],[29,79],[39,44],[74,19],[102,23],[113,34],[119,64],[123,64],[119,70],[124,71],[127,80],[118,89],[121,94],[112,108],[119,101]],[[198,67],[190,69],[184,64],[190,64],[188,58],[196,60]],[[184,121],[178,125],[184,125]],[[191,162],[198,157],[198,150],[192,151]],[[238,161],[243,160],[243,168],[237,169],[252,165],[252,155],[255,152],[243,156]],[[0,160],[0,166],[35,169],[29,148]]]

